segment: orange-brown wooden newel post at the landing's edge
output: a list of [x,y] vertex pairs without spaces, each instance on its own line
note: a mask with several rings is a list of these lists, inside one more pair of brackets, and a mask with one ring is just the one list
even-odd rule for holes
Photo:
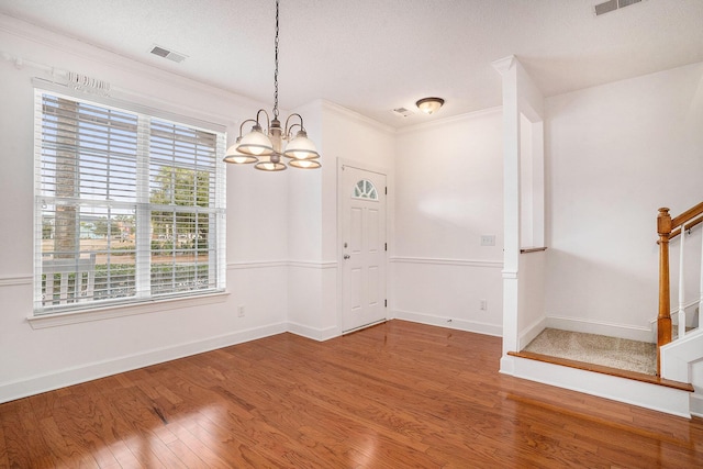
[[671,215],[669,209],[659,209],[657,215],[657,233],[659,234],[659,315],[657,316],[657,375],[661,375],[660,347],[671,342],[671,309],[669,293],[669,235],[671,234]]

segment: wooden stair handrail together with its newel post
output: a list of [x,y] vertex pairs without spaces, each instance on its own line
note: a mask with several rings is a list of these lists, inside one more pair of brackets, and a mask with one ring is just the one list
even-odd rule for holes
[[[669,209],[659,209],[657,233],[659,234],[659,314],[657,316],[657,375],[661,375],[661,346],[671,342],[671,293],[669,283],[669,241],[703,222],[703,202],[671,217]],[[683,279],[679,278],[682,284]],[[682,292],[682,290],[681,290]],[[702,292],[703,293],[703,292]],[[681,334],[680,334],[681,337]]]

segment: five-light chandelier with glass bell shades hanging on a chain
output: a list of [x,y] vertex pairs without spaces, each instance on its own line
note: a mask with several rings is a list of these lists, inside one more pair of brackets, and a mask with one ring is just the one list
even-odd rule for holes
[[[278,3],[276,0],[276,53],[274,71],[274,119],[271,120],[264,109],[259,109],[256,119],[247,119],[239,125],[239,136],[234,145],[227,148],[224,161],[236,165],[254,163],[256,169],[263,171],[282,171],[287,168],[283,158],[289,159],[288,165],[300,169],[315,169],[322,165],[319,161],[320,154],[315,144],[308,138],[303,118],[300,114],[291,114],[286,119],[286,125],[281,126],[278,120]],[[266,118],[266,131],[261,126],[263,116]],[[259,120],[261,119],[261,120]],[[291,123],[291,119],[293,122]],[[297,121],[300,120],[300,123]],[[242,136],[245,124],[253,123],[252,131]],[[300,127],[300,129],[298,129]],[[293,131],[298,131],[293,136]],[[288,142],[283,149],[283,141]]]

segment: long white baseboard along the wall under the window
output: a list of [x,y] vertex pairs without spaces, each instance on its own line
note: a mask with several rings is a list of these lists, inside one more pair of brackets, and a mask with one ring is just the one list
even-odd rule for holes
[[53,391],[67,386],[92,381],[94,379],[104,378],[107,376],[155,364],[175,360],[177,358],[188,357],[190,355],[202,354],[203,351],[228,347],[231,345],[242,344],[244,342],[255,340],[261,337],[268,337],[270,335],[286,332],[286,323],[270,324],[263,327],[210,337],[204,340],[158,348],[111,360],[97,361],[76,368],[31,377],[21,381],[0,383],[0,403],[46,391]]

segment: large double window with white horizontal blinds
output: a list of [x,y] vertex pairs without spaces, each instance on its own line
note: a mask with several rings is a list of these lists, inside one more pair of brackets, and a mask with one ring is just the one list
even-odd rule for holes
[[224,290],[222,132],[40,89],[35,105],[35,315]]

